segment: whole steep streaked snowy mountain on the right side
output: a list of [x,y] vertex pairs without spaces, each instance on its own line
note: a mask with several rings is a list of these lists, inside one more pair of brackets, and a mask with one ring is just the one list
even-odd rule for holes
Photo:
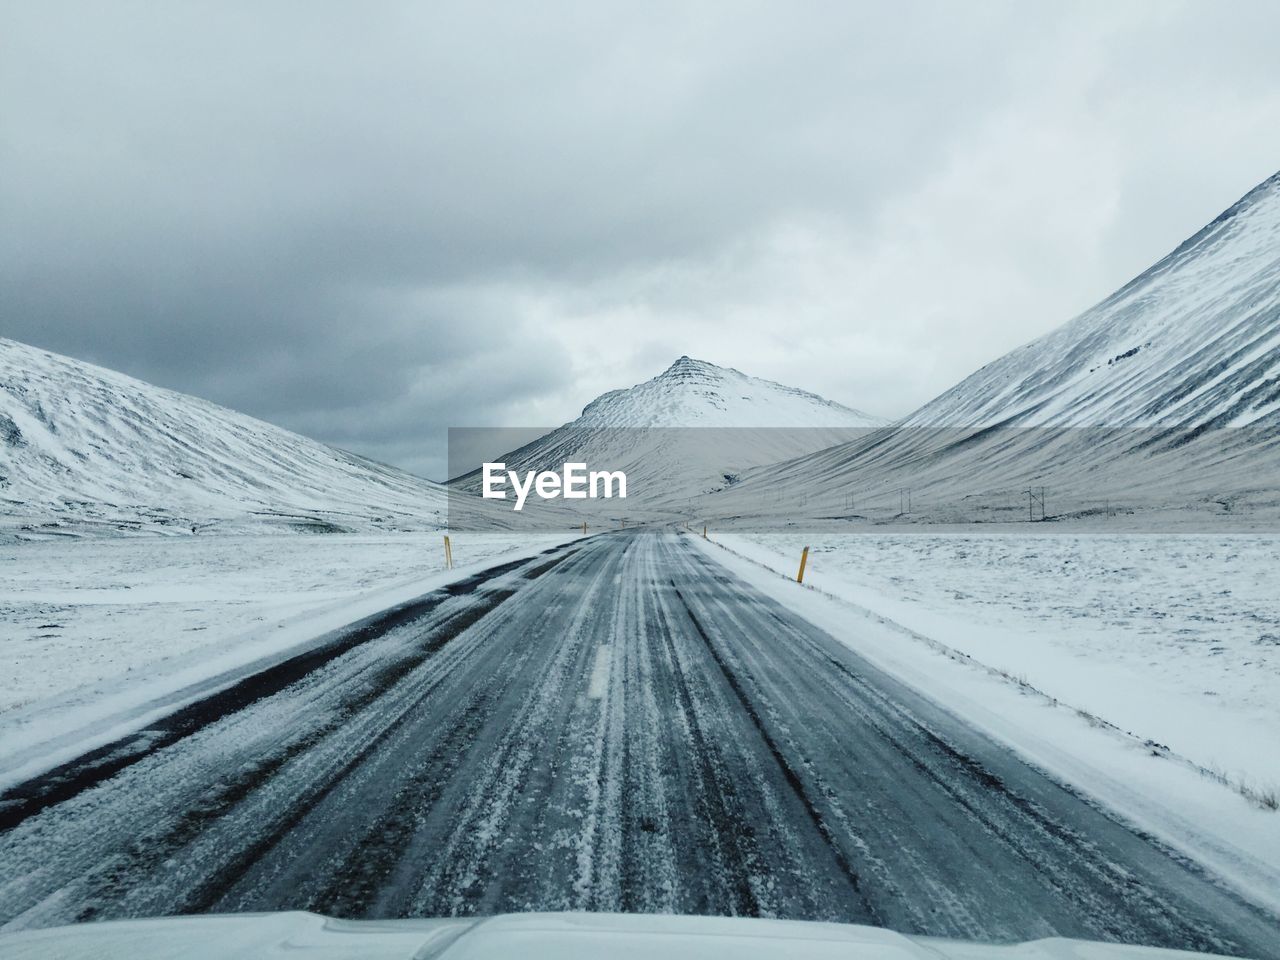
[[1016,517],[1041,485],[1051,513],[1276,507],[1280,174],[1057,330],[893,428],[754,471],[717,509],[891,515],[910,489],[915,515]]

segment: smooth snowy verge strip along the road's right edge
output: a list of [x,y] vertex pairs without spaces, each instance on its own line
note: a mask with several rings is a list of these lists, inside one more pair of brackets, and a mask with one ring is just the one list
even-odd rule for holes
[[797,585],[714,540],[696,549],[1036,768],[1280,914],[1280,814],[1192,764],[1082,717],[1016,680],[867,608]]

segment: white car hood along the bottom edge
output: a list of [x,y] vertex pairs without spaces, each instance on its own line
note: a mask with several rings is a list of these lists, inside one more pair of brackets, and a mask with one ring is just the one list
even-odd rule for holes
[[989,946],[876,927],[653,914],[334,920],[308,913],[111,920],[0,934],[0,960],[1172,960],[1175,950],[1037,940]]

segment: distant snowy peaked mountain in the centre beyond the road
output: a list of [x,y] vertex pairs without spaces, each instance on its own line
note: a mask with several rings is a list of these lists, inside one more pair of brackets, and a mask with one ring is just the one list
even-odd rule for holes
[[[652,380],[611,390],[581,416],[500,457],[509,470],[582,462],[627,475],[631,516],[736,481],[753,467],[846,443],[888,421],[814,393],[681,357]],[[479,488],[477,472],[457,477]]]

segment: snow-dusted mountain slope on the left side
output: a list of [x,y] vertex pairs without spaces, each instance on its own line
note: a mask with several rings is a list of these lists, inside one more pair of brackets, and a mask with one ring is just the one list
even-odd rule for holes
[[422,529],[443,488],[0,338],[0,534]]

